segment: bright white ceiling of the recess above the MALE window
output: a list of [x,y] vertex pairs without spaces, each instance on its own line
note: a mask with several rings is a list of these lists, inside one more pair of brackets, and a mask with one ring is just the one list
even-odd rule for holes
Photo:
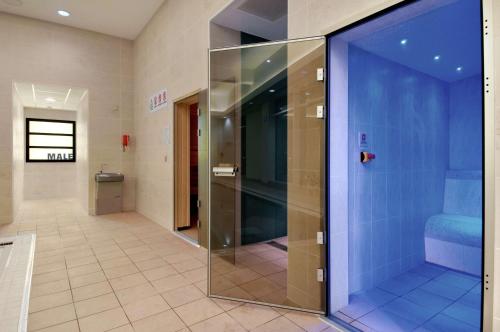
[[81,88],[68,88],[45,84],[14,83],[24,107],[76,111],[87,92]]

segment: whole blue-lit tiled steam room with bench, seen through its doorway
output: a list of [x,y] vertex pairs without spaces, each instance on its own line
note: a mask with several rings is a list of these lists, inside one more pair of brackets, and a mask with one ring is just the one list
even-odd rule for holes
[[418,1],[329,40],[329,313],[480,331],[481,8]]

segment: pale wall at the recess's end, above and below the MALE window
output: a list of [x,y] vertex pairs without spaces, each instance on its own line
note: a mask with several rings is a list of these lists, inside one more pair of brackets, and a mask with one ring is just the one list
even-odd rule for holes
[[[76,120],[76,112],[24,108],[24,118]],[[24,129],[24,128],[23,128]],[[25,129],[23,130],[24,133]],[[23,155],[25,147],[17,147],[14,153]],[[23,155],[23,161],[25,161]],[[24,164],[24,200],[73,198],[76,197],[75,163],[25,163]],[[14,188],[14,190],[17,190]]]

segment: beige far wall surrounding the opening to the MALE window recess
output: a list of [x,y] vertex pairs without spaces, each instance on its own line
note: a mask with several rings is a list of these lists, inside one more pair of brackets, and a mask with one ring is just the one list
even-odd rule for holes
[[[128,176],[134,174],[133,151],[120,149],[121,132],[133,131],[132,43],[0,13],[0,45],[2,181],[12,182],[13,81],[89,89],[89,172],[107,163],[109,170],[121,170],[133,180]],[[133,191],[134,186],[127,183],[126,188]],[[0,187],[0,223],[12,221],[12,196],[11,185]],[[133,202],[127,207],[133,209]]]

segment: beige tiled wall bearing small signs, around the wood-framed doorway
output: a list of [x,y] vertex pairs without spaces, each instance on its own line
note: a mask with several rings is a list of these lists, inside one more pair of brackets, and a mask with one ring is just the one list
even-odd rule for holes
[[[137,211],[168,229],[173,227],[173,101],[208,86],[208,21],[228,2],[167,0],[134,42]],[[150,95],[164,88],[168,107],[149,113]]]

